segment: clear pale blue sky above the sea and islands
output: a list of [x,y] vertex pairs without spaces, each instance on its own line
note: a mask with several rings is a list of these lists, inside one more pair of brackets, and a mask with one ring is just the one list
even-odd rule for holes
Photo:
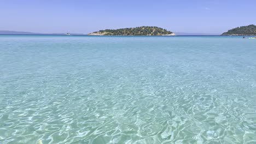
[[90,33],[158,26],[172,32],[222,33],[256,24],[255,0],[0,0],[0,30]]

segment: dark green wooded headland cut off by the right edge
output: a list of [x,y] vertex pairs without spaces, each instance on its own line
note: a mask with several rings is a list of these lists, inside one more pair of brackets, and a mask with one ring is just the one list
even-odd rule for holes
[[230,29],[228,32],[223,33],[222,35],[256,35],[256,26],[242,26]]

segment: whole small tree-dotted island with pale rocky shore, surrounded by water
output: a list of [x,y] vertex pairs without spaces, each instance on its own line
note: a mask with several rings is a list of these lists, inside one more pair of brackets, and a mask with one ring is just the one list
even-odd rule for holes
[[105,29],[98,32],[89,33],[88,35],[175,35],[160,27],[135,27],[120,29]]

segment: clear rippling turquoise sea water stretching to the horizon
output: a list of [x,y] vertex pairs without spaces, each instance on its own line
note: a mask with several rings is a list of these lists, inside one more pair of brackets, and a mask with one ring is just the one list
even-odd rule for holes
[[256,40],[0,35],[0,143],[256,143]]

